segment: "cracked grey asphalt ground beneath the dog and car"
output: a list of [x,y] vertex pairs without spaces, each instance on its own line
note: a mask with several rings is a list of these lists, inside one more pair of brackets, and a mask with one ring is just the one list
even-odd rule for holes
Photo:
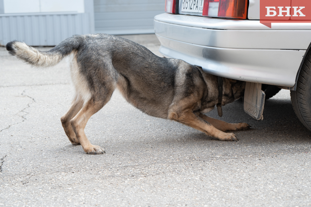
[[[160,55],[154,35],[126,37]],[[0,74],[0,206],[311,205],[310,132],[287,90],[262,121],[239,101],[223,108],[220,119],[253,126],[236,142],[150,117],[115,92],[85,130],[106,154],[88,155],[60,123],[73,94],[65,61],[41,70],[0,48]]]

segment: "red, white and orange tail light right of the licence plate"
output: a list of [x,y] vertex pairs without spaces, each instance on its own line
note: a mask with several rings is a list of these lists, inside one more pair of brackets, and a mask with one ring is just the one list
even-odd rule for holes
[[205,0],[203,16],[246,19],[247,0]]

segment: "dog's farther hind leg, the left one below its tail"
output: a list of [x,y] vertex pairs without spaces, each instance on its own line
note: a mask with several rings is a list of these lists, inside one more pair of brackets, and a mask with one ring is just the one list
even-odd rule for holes
[[83,100],[77,94],[72,100],[72,104],[70,105],[68,111],[61,117],[64,131],[72,145],[79,145],[80,143],[76,137],[75,132],[72,129],[70,120],[77,115],[77,113],[81,110],[82,106]]

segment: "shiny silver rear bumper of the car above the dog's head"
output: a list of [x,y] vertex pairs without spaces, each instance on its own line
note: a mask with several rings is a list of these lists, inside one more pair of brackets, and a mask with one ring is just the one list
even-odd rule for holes
[[[292,87],[311,42],[311,23],[276,24],[160,14],[160,53],[236,80]],[[287,27],[286,27],[287,25]],[[278,29],[275,29],[278,28]]]

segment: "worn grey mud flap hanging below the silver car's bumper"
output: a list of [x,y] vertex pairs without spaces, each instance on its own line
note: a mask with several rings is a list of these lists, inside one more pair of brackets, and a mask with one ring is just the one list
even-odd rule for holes
[[261,90],[261,83],[246,82],[244,93],[244,111],[251,117],[262,120],[266,94]]

